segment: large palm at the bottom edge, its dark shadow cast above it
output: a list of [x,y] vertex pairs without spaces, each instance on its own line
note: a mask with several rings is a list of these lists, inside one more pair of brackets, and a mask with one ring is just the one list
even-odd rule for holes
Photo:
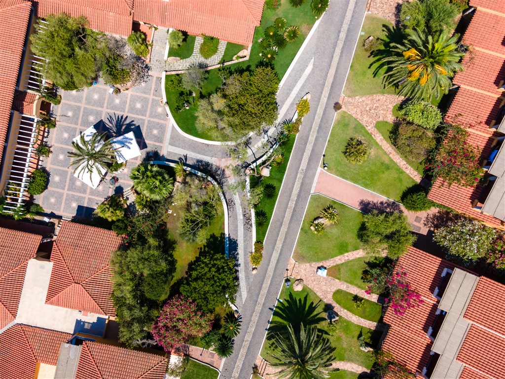
[[271,353],[270,364],[282,369],[279,378],[288,379],[323,379],[328,377],[328,367],[335,359],[335,348],[322,336],[315,325],[300,324],[296,333],[291,325],[286,325],[286,334],[276,334],[274,342],[277,348]]

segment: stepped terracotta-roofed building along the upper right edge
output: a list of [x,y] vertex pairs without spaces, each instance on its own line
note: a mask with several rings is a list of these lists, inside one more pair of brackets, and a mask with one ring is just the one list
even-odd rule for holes
[[471,0],[470,6],[477,9],[463,42],[471,47],[463,60],[465,71],[453,79],[459,87],[446,121],[468,131],[467,142],[478,148],[488,173],[483,185],[475,187],[449,187],[438,178],[428,198],[489,226],[505,228],[505,212],[500,209],[505,204],[505,178],[497,180],[489,171],[499,160],[497,155],[505,140],[505,2]]

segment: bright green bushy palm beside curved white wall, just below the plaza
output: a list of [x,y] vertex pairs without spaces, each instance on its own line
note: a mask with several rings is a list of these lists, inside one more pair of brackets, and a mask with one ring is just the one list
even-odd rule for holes
[[131,170],[130,178],[135,191],[151,200],[162,200],[174,190],[174,178],[155,164],[139,164]]

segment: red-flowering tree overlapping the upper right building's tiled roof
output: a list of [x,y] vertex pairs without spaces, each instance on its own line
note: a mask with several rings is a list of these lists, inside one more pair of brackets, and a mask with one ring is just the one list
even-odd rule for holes
[[467,143],[468,132],[460,126],[451,126],[438,155],[427,168],[433,178],[440,177],[450,187],[475,186],[484,175],[479,164],[480,151]]

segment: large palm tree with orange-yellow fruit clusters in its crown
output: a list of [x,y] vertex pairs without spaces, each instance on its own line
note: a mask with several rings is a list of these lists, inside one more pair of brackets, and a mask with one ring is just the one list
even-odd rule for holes
[[397,85],[398,94],[414,100],[440,98],[451,86],[451,77],[463,71],[459,63],[464,56],[457,45],[458,34],[449,36],[444,30],[435,36],[426,30],[407,30],[402,42],[391,42],[385,49],[372,53],[379,63],[377,73],[383,67],[384,82]]

